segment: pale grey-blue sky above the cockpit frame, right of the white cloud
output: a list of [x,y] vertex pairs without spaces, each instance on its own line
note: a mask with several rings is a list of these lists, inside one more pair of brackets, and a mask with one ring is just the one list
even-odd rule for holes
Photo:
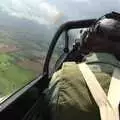
[[88,19],[117,11],[120,12],[120,0],[52,0],[69,20]]

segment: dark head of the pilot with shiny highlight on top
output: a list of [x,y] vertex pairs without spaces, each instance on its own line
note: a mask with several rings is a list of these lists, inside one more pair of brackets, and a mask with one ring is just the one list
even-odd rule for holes
[[112,12],[98,19],[89,29],[83,46],[93,52],[120,55],[120,14]]

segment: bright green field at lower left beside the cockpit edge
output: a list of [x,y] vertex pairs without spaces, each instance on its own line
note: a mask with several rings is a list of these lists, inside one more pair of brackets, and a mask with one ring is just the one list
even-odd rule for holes
[[14,64],[14,58],[0,54],[0,97],[9,95],[33,80],[36,74]]

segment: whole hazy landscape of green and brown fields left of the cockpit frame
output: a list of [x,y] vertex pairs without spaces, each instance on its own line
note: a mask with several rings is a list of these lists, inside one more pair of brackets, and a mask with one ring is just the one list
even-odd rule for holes
[[3,16],[1,12],[0,15],[1,100],[42,74],[49,39],[52,37],[51,31],[44,25]]

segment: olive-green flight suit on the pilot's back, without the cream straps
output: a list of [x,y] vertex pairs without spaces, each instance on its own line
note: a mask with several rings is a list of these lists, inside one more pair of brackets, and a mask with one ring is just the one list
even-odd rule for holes
[[[113,70],[120,68],[120,62],[112,54],[90,53],[85,63],[107,94]],[[54,73],[47,95],[52,120],[100,120],[99,109],[75,62],[63,63]]]

